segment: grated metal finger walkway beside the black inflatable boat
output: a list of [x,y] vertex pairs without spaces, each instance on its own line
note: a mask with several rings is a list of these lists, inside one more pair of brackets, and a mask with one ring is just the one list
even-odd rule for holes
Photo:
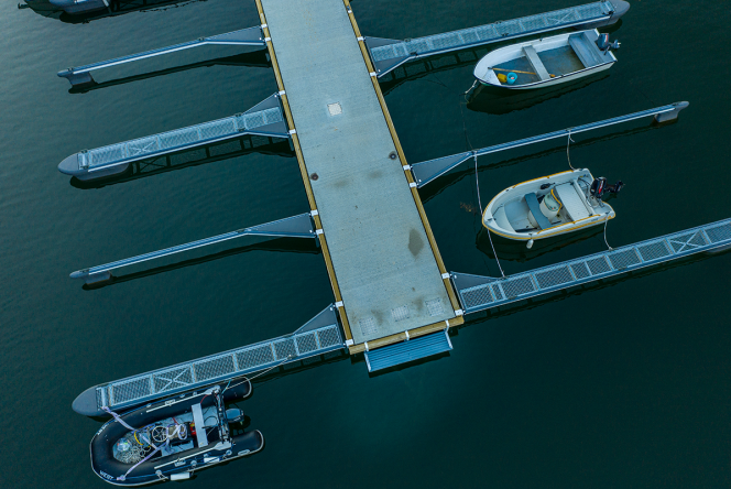
[[98,385],[97,408],[128,409],[341,348],[340,326],[330,305],[291,335]]

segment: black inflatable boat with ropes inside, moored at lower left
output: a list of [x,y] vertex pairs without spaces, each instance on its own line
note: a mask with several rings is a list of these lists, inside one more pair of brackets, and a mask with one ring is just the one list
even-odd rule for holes
[[[242,430],[243,412],[225,402],[251,393],[248,379],[215,385],[117,414],[91,439],[91,468],[117,486],[189,479],[194,471],[261,450],[259,431]],[[238,425],[238,430],[236,430]],[[234,431],[232,431],[232,428]]]

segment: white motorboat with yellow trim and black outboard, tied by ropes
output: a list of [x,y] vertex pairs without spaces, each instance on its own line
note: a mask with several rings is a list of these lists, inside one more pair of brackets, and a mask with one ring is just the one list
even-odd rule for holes
[[602,200],[624,184],[607,185],[587,169],[570,170],[513,185],[498,194],[482,215],[490,231],[508,239],[527,241],[565,235],[604,224],[614,209]]

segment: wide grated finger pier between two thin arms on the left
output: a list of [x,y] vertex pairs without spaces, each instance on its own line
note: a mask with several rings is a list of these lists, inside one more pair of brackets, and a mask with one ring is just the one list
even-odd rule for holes
[[58,170],[72,175],[98,172],[148,157],[239,138],[243,134],[290,137],[279,95],[274,94],[250,110],[236,116],[81,151],[61,162]]

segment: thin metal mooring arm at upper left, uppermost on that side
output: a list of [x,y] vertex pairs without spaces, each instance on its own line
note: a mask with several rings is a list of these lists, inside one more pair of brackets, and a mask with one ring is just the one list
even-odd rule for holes
[[263,33],[260,26],[241,29],[239,31],[227,32],[225,34],[199,37],[195,41],[188,41],[167,47],[159,47],[156,50],[145,51],[144,53],[130,54],[127,56],[116,57],[113,59],[63,69],[58,72],[58,76],[68,79],[72,86],[91,84],[94,83],[94,78],[91,77],[92,70],[205,45],[240,45],[265,47],[266,43],[263,40]]

